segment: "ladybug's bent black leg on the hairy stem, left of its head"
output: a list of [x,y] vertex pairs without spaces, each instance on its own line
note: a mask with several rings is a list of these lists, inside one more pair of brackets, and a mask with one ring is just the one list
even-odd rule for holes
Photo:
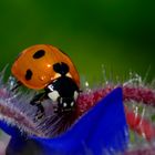
[[45,99],[45,93],[40,93],[37,94],[30,102],[31,105],[34,105],[38,107],[37,114],[35,114],[35,118],[40,120],[44,116],[44,107],[41,104],[41,102]]

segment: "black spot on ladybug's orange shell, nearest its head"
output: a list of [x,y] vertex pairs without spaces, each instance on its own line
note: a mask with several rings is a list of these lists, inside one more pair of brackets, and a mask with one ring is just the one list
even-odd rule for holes
[[64,62],[53,64],[53,70],[61,75],[65,75],[69,72],[69,65]]

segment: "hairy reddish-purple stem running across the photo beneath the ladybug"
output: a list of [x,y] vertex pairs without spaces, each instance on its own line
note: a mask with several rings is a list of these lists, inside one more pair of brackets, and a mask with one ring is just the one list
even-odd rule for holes
[[[123,101],[125,106],[130,110],[132,108],[132,111],[135,112],[135,116],[142,116],[142,124],[140,125],[143,125],[143,118],[151,120],[152,116],[155,117],[155,81],[148,84],[146,82],[147,75],[143,80],[137,73],[130,72],[130,78],[128,80],[125,80],[125,82],[120,80],[116,82],[110,82],[104,69],[104,83],[101,85],[91,89],[87,81],[83,82],[85,87],[83,86],[84,91],[80,93],[78,97],[74,113],[59,115],[54,113],[54,108],[49,110],[48,107],[48,114],[40,121],[34,121],[37,107],[29,104],[35,92],[31,91],[23,93],[18,90],[14,92],[10,91],[13,82],[11,81],[11,84],[10,82],[4,83],[3,75],[4,71],[0,73],[0,120],[10,125],[17,126],[21,132],[27,134],[53,137],[65,132],[78,117],[87,112],[116,86],[121,86],[123,90]],[[51,102],[51,100],[46,101],[50,106],[52,105]],[[45,105],[45,101],[43,101],[42,104]],[[153,124],[153,122],[151,123]],[[142,141],[142,143],[144,141]],[[138,143],[133,146],[140,147],[142,145]]]

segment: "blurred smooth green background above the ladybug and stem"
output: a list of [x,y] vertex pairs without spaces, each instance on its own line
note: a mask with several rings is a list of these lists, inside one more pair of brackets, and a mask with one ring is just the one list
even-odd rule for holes
[[[90,82],[102,64],[114,76],[155,76],[155,2],[140,0],[1,0],[0,69],[23,49],[48,43],[65,51]],[[10,71],[8,70],[8,74]]]

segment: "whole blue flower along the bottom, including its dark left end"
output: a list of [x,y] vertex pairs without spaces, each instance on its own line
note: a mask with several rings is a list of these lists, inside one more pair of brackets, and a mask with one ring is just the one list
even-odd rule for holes
[[1,121],[11,135],[8,155],[102,155],[124,152],[128,144],[122,89],[113,90],[83,114],[66,132],[52,138],[27,136]]

